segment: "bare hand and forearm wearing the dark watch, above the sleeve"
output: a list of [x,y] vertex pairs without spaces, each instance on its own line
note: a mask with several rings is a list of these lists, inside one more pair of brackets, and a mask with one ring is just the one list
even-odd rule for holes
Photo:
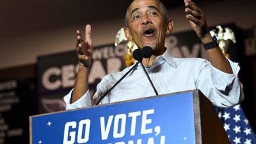
[[[190,0],[185,0],[184,5],[186,7],[186,18],[189,20],[190,25],[194,31],[196,31],[202,43],[206,44],[212,42],[213,38],[209,33],[209,29],[207,27],[205,16],[202,10],[196,5],[196,3]],[[206,50],[206,54],[213,67],[223,71],[224,73],[233,73],[228,60],[224,56],[223,52],[221,52],[219,47]]]

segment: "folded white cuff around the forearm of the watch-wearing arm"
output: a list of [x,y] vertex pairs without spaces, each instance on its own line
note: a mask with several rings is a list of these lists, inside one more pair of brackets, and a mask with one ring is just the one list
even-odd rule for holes
[[240,71],[238,63],[232,62],[228,58],[227,60],[230,63],[230,67],[233,71],[232,74],[224,73],[211,65],[211,77],[215,78],[213,79],[213,84],[215,85],[215,88],[218,88],[221,91],[226,91],[226,88],[228,88],[228,86],[234,82],[234,79],[237,77],[238,72]]

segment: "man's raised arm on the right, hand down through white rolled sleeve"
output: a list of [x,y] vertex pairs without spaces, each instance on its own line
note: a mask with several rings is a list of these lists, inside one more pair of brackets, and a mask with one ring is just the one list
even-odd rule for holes
[[[186,7],[186,19],[189,20],[190,25],[196,31],[202,43],[213,42],[202,10],[190,0],[185,0],[184,5]],[[196,82],[198,89],[202,90],[205,96],[219,107],[236,105],[244,98],[242,84],[238,80],[238,71],[240,70],[238,63],[228,62],[219,47],[206,50],[206,54],[213,67],[211,71],[200,71]],[[208,65],[205,63],[201,69],[207,69],[207,67]],[[214,67],[224,73],[219,73]],[[211,79],[209,79],[209,73],[211,73]],[[210,82],[213,85],[209,84]]]

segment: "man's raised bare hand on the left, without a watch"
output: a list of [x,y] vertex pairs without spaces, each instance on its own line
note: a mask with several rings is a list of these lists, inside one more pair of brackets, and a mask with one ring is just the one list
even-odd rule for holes
[[83,67],[89,68],[92,62],[93,42],[91,41],[91,26],[85,26],[85,40],[83,39],[79,30],[77,33],[76,51],[79,64]]

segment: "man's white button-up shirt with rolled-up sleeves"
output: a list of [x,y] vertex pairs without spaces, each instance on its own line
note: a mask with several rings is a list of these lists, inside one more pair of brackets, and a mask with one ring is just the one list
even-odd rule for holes
[[[169,51],[156,58],[146,71],[158,94],[169,94],[185,90],[199,89],[212,103],[218,107],[236,105],[243,97],[242,84],[238,80],[238,63],[228,60],[233,74],[223,73],[216,69],[207,60],[202,58],[173,58]],[[131,66],[132,67],[132,66]],[[97,85],[93,101],[98,100],[111,86],[113,86],[131,67],[119,73],[106,75]],[[92,105],[89,91],[84,96],[70,103],[72,90],[64,97],[66,109],[75,109]],[[123,79],[102,103],[113,103],[129,99],[156,96],[150,82],[139,64]]]

